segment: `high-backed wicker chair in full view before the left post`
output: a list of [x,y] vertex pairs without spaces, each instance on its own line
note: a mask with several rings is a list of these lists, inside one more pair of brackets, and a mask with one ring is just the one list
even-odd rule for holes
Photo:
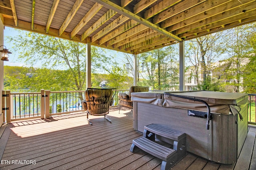
[[92,125],[88,115],[104,115],[109,113],[110,106],[113,105],[113,98],[116,94],[116,88],[87,88],[85,100],[83,100],[84,109],[87,112],[87,121]]

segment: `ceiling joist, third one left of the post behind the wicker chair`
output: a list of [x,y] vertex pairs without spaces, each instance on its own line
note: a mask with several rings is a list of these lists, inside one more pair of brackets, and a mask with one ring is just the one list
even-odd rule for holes
[[70,10],[70,12],[68,13],[68,16],[66,17],[65,21],[62,23],[62,25],[60,26],[59,29],[59,35],[62,35],[62,33],[65,31],[65,29],[68,27],[68,24],[70,23],[70,21],[74,18],[76,12],[78,11],[78,9],[80,8],[80,6],[82,5],[82,3],[84,2],[84,0],[77,0],[74,4],[74,6],[72,7],[72,9]]

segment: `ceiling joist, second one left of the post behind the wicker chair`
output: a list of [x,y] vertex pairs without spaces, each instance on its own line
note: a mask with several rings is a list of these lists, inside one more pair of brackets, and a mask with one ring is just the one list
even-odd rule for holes
[[95,3],[92,8],[85,14],[85,16],[82,18],[82,20],[76,25],[76,27],[71,31],[70,38],[74,37],[80,29],[82,29],[91,19],[94,17],[97,12],[102,8],[103,6]]

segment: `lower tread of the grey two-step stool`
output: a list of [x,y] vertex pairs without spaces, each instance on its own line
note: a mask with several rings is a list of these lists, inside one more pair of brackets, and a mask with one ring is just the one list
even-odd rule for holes
[[159,145],[145,137],[140,137],[132,141],[138,148],[156,156],[162,160],[167,161],[171,156],[176,154],[176,150]]

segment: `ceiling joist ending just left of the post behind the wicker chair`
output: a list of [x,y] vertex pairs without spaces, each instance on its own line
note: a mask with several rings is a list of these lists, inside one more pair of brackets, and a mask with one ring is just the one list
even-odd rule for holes
[[91,33],[93,33],[96,29],[98,29],[101,25],[103,25],[106,21],[110,20],[117,12],[114,10],[108,10],[99,20],[97,20],[92,26],[90,26],[82,35],[81,40],[88,37]]

